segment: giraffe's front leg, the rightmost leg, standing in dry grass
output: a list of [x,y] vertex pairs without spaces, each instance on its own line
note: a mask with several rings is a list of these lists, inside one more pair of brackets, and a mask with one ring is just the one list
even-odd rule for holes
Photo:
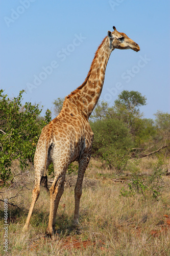
[[90,156],[88,155],[82,158],[81,161],[79,162],[79,172],[78,172],[78,178],[77,178],[77,183],[75,187],[75,215],[72,223],[73,227],[77,227],[79,225],[79,208],[80,208],[80,198],[82,195],[82,184],[83,184],[84,173],[89,161],[90,161]]

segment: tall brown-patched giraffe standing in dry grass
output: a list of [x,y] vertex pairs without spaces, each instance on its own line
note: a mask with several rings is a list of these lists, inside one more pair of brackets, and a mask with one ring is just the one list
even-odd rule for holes
[[140,50],[132,39],[125,33],[118,32],[113,26],[113,32],[108,31],[108,35],[95,52],[85,81],[65,97],[59,115],[42,129],[34,156],[35,187],[24,230],[28,230],[33,208],[40,194],[41,181],[46,179],[46,169],[51,162],[54,165],[55,178],[50,188],[50,216],[46,233],[50,236],[54,234],[55,218],[64,191],[66,170],[73,161],[79,163],[73,226],[79,225],[82,182],[90,161],[93,141],[88,118],[101,95],[107,62],[114,49],[132,49],[136,52]]

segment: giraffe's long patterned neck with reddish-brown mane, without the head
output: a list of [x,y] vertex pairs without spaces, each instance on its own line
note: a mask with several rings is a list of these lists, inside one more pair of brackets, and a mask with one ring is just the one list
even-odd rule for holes
[[102,92],[106,66],[111,54],[109,44],[109,38],[105,37],[95,53],[85,81],[65,99],[77,105],[87,118],[91,115]]

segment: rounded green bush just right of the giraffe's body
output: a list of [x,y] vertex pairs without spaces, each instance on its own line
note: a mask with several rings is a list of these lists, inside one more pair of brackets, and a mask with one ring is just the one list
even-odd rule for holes
[[94,132],[93,155],[120,172],[127,164],[133,140],[128,128],[117,119],[104,119],[91,124]]

